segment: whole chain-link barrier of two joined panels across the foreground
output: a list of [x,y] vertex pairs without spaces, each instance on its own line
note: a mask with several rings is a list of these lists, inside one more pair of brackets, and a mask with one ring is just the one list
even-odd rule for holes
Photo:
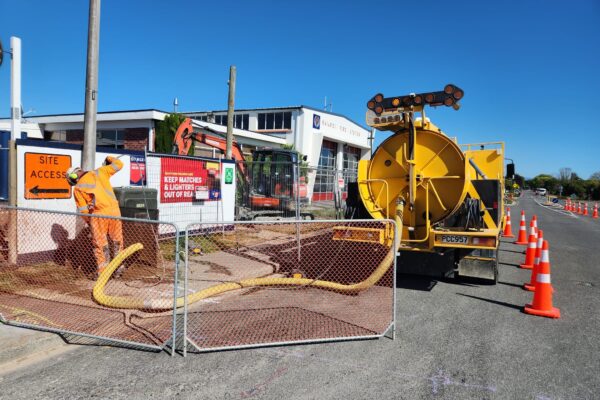
[[0,319],[184,355],[377,338],[393,334],[395,229],[220,221],[180,238],[170,223],[0,207]]

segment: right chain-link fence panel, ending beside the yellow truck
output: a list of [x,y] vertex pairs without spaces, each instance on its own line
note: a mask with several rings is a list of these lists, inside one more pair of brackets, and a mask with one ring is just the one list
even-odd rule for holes
[[389,220],[188,225],[184,354],[188,344],[383,336],[395,321],[395,229]]

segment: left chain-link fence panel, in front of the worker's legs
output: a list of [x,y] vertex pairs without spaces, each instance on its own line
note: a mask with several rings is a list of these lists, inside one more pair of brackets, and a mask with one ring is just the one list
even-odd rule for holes
[[[178,247],[172,224],[0,208],[0,317],[11,325],[162,349],[176,338]],[[116,268],[121,248],[132,253],[122,260],[126,268],[98,278],[101,258],[117,258],[109,264]]]

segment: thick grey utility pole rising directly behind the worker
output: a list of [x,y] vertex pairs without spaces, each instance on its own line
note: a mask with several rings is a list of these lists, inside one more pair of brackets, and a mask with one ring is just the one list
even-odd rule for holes
[[100,0],[90,0],[88,51],[85,71],[85,113],[81,168],[91,171],[96,164],[96,112],[98,111],[98,53],[100,46]]

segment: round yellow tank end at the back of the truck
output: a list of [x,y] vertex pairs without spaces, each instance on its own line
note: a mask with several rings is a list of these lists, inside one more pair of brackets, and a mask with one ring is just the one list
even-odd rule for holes
[[[363,204],[373,218],[395,215],[397,199],[405,200],[405,229],[426,228],[447,218],[466,196],[467,171],[461,149],[432,123],[426,123],[424,129],[421,121],[414,125],[412,160],[409,132],[398,131],[379,146],[371,161],[361,161],[358,176],[365,183],[359,185]],[[411,170],[415,182],[412,204]]]

